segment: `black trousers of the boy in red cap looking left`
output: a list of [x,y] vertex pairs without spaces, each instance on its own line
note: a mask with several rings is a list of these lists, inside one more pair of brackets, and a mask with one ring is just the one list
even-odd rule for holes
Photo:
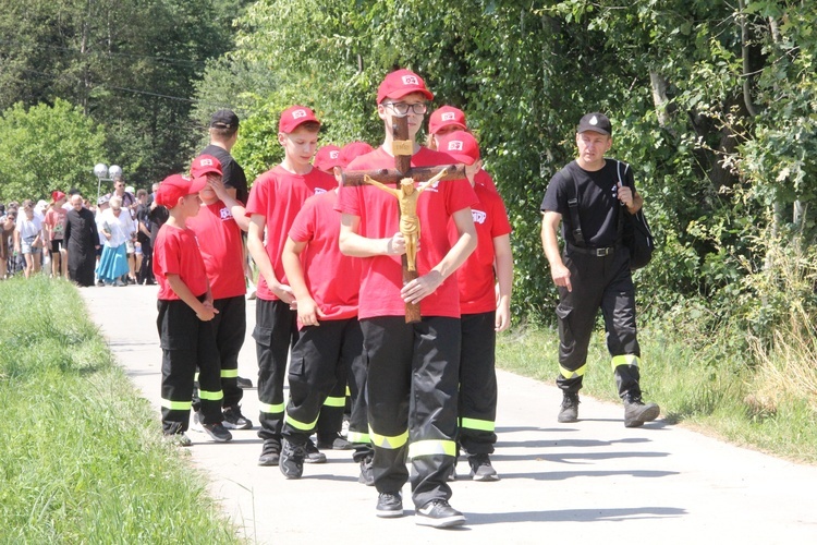
[[261,439],[281,440],[286,356],[298,339],[297,313],[283,301],[256,300],[255,339],[258,358],[258,404]]

